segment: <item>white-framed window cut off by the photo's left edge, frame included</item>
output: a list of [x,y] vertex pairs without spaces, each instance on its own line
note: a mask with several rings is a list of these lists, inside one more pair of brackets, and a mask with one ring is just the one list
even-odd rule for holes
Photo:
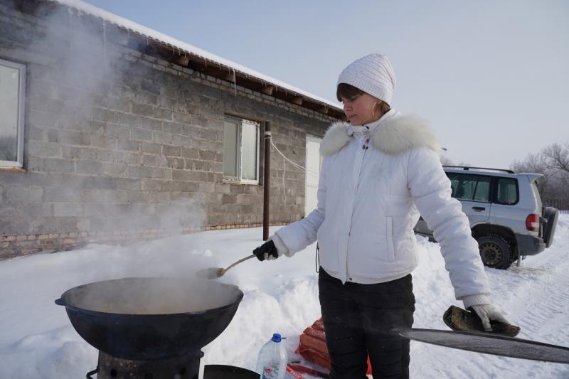
[[23,166],[26,66],[0,59],[0,167]]

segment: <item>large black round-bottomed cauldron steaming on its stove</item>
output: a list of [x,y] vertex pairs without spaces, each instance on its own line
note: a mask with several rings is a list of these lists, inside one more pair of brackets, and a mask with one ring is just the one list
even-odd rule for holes
[[238,287],[191,278],[129,277],[84,284],[55,300],[90,345],[129,360],[199,353],[225,330]]

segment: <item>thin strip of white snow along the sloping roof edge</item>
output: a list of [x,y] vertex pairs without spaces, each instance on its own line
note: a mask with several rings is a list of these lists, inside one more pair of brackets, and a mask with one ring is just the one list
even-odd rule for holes
[[341,109],[339,107],[339,104],[336,102],[324,99],[324,97],[312,95],[312,93],[306,92],[304,90],[301,90],[297,87],[289,85],[275,78],[271,78],[270,76],[264,75],[262,73],[257,73],[257,71],[251,70],[250,68],[246,68],[243,65],[240,65],[238,63],[232,62],[224,58],[220,58],[217,55],[208,53],[206,50],[202,50],[201,48],[196,48],[196,46],[191,46],[189,43],[179,41],[176,38],[167,36],[164,33],[160,33],[159,31],[155,31],[154,29],[147,28],[147,26],[143,26],[140,25],[139,23],[135,23],[134,21],[127,20],[127,18],[122,18],[121,16],[117,16],[116,14],[107,12],[104,9],[100,9],[91,4],[87,4],[81,0],[53,0],[53,1],[77,9],[78,11],[83,12],[85,14],[90,14],[91,16],[102,18],[104,21],[114,23],[119,27],[125,28],[134,33],[139,33],[143,36],[151,38],[154,41],[158,41],[166,45],[179,48],[180,50],[186,50],[186,52],[191,53],[193,55],[197,55],[200,58],[203,58],[205,60],[210,60],[212,62],[217,63],[218,65],[223,65],[237,72],[252,76],[264,82],[284,88],[285,90],[289,90],[290,92],[295,92],[297,93],[297,95],[303,95],[305,97],[311,98],[312,100],[317,100],[318,102],[324,103],[325,105],[329,105],[330,107]]

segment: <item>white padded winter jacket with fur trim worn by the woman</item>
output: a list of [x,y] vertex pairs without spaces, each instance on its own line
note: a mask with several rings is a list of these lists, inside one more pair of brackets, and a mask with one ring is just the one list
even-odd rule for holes
[[[486,273],[425,121],[390,110],[363,127],[331,125],[321,142],[318,205],[277,231],[291,256],[315,240],[320,265],[342,282],[388,282],[418,265],[419,212],[440,242],[457,299],[490,304]],[[278,238],[280,237],[280,238]]]

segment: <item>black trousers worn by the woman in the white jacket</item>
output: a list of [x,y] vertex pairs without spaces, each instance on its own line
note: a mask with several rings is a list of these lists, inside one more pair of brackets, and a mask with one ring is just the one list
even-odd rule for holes
[[369,354],[373,379],[409,378],[409,340],[390,332],[413,325],[411,274],[392,282],[357,284],[318,278],[331,379],[365,379]]

